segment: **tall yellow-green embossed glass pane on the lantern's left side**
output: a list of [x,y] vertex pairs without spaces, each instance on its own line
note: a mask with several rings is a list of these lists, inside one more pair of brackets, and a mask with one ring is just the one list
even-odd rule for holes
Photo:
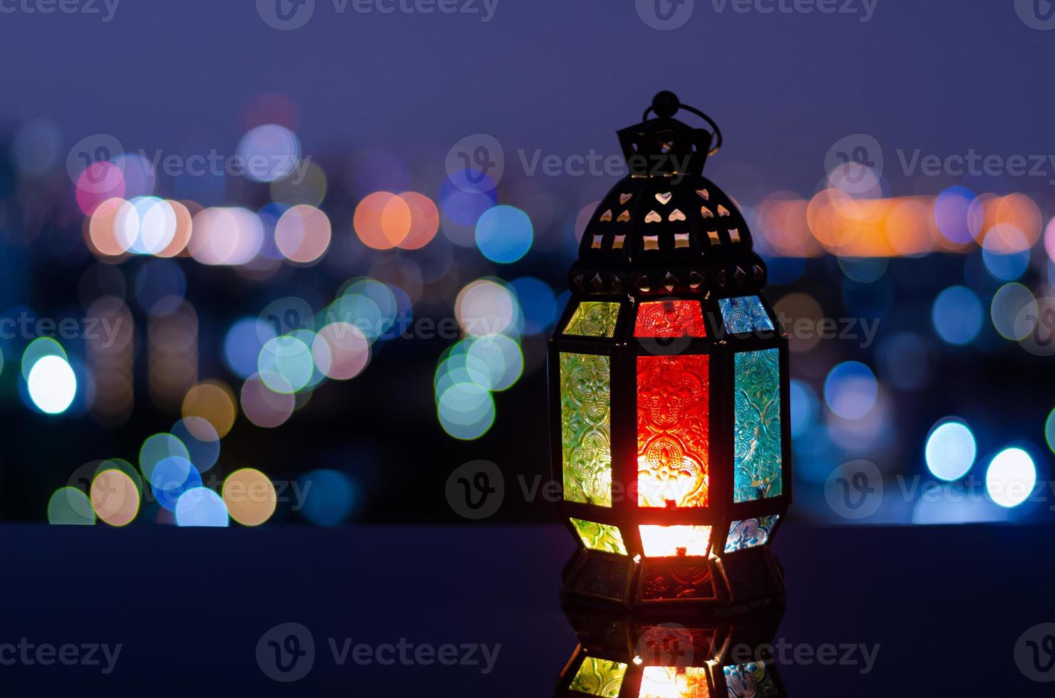
[[609,358],[560,353],[560,447],[564,499],[612,506]]

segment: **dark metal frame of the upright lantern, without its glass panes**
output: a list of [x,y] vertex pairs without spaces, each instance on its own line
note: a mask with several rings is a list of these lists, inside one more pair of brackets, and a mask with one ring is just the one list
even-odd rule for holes
[[[656,118],[619,132],[628,164],[638,155],[649,158],[651,163],[660,162],[656,153],[675,155],[670,157],[666,169],[653,164],[655,171],[641,173],[631,167],[631,174],[601,200],[583,233],[579,260],[569,275],[571,299],[550,341],[551,457],[558,482],[563,482],[560,355],[602,355],[609,361],[611,506],[564,500],[562,518],[580,545],[571,518],[618,527],[627,551],[622,556],[582,546],[564,569],[563,594],[627,607],[711,604],[743,608],[784,590],[783,571],[769,551],[769,542],[783,524],[791,501],[788,338],[772,307],[760,293],[766,279],[765,264],[752,250],[746,220],[732,200],[703,177],[703,163],[712,152],[709,144],[721,136],[716,128],[712,137],[707,131],[689,129],[671,118],[679,106],[676,97],[660,93],[650,108],[656,112]],[[677,159],[677,153],[683,154],[683,159]],[[631,202],[634,202],[633,213],[628,206],[622,209],[626,213],[619,214],[624,219],[614,219],[614,211]],[[697,202],[703,214],[711,215],[701,214],[697,218],[686,213],[690,205]],[[715,209],[718,215],[714,215]],[[728,220],[718,226],[718,217]],[[755,328],[734,334],[726,327],[718,300],[741,296],[759,298],[772,329]],[[670,340],[635,336],[641,304],[666,300],[699,303],[706,336]],[[583,302],[619,305],[611,336],[564,333]],[[781,493],[736,502],[733,493],[735,356],[770,349],[778,351]],[[636,492],[638,478],[638,357],[704,354],[708,356],[707,504],[677,507],[668,502],[667,508],[639,506],[636,496],[628,496]],[[621,488],[619,492],[616,487]],[[774,515],[779,519],[764,544],[725,551],[734,522]],[[640,525],[710,526],[707,555],[649,557],[645,554]],[[654,600],[642,595],[650,575],[676,576],[679,568],[701,565],[706,565],[706,574],[712,580],[710,598],[691,592],[683,598]],[[699,577],[705,573],[694,568],[692,574]]]

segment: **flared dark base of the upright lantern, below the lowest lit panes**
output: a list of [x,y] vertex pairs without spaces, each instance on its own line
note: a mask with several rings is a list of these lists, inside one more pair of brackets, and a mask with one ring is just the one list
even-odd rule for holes
[[686,605],[723,615],[745,613],[784,595],[784,570],[768,546],[722,558],[633,558],[579,549],[561,574],[565,602],[624,608]]

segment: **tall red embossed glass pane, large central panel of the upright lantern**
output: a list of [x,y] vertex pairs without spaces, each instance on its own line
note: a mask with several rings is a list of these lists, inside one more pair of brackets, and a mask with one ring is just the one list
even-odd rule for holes
[[707,506],[708,358],[637,357],[638,506]]

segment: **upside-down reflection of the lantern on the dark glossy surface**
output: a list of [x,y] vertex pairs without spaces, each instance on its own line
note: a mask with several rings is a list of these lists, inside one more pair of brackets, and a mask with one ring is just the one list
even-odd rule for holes
[[578,646],[557,681],[558,698],[779,698],[787,695],[772,653],[784,608],[732,620],[641,620],[564,608]]

